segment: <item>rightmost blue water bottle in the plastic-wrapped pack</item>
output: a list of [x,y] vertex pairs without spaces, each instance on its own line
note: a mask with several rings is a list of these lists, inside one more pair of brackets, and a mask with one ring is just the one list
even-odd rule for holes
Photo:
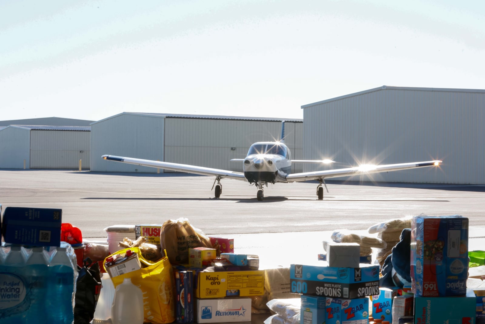
[[58,247],[49,264],[48,323],[74,322],[74,267],[65,247]]

